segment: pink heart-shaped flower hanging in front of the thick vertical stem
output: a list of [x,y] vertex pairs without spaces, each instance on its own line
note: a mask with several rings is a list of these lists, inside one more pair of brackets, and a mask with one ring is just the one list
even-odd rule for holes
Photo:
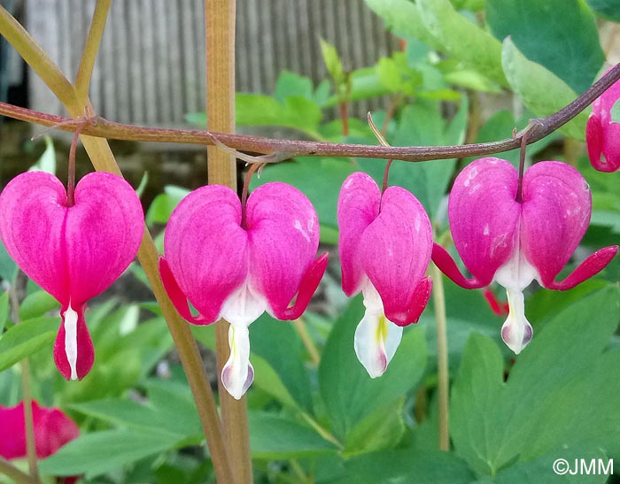
[[221,381],[235,398],[254,376],[248,327],[263,311],[276,319],[301,316],[327,266],[327,254],[314,259],[318,245],[314,207],[284,183],[256,188],[245,210],[221,185],[194,190],[174,209],[166,257],[159,260],[161,280],[190,323],[229,321],[230,357]]

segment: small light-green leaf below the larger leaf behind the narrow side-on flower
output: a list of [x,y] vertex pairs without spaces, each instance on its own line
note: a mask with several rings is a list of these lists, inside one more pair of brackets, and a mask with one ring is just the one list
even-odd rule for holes
[[345,442],[343,457],[393,449],[407,430],[403,419],[404,398],[375,409],[353,427]]

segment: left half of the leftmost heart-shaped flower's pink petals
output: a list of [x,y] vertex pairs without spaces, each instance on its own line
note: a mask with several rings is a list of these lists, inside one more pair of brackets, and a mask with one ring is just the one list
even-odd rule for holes
[[0,237],[27,276],[66,303],[69,284],[64,249],[66,190],[55,176],[27,172],[0,194]]

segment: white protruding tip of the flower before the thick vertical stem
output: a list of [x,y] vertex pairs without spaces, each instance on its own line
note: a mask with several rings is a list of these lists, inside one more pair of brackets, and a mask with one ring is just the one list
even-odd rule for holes
[[229,327],[230,357],[221,370],[221,382],[239,400],[252,385],[254,368],[250,363],[250,332],[243,325]]

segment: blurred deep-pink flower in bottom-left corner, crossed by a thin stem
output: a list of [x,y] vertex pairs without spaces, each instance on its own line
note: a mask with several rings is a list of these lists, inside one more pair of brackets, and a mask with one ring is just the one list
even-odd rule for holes
[[[36,457],[43,459],[58,452],[67,442],[80,436],[80,429],[63,411],[44,408],[32,402]],[[0,405],[0,456],[13,460],[27,457],[24,403],[3,408]],[[78,476],[65,478],[73,484]]]

